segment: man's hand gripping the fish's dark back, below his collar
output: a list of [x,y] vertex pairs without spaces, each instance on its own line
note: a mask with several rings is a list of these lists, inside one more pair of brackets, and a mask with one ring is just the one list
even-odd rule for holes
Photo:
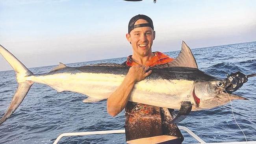
[[133,80],[135,83],[142,81],[143,79],[145,79],[147,76],[151,74],[152,70],[149,70],[147,72],[149,68],[150,68],[149,66],[143,66],[143,65],[132,66],[129,69],[128,74],[126,75],[126,78],[128,77],[128,79]]

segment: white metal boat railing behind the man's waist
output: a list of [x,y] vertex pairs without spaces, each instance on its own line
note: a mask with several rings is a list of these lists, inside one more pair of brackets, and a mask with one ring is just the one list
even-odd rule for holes
[[[187,127],[184,126],[178,126],[179,129],[182,129],[189,133],[193,138],[195,138],[199,143],[194,144],[256,144],[256,141],[247,141],[247,142],[211,142],[207,143],[204,142],[200,137],[198,137],[195,133],[193,133],[191,130],[189,130]],[[87,131],[87,132],[75,132],[75,133],[62,133],[59,135],[53,144],[57,144],[59,140],[62,137],[68,137],[68,136],[84,136],[84,135],[104,135],[104,134],[115,134],[115,133],[125,133],[124,129],[120,130],[109,130],[109,131]]]

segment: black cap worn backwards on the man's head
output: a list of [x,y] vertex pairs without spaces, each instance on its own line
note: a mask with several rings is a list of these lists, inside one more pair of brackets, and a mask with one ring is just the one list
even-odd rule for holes
[[[145,24],[135,24],[135,22],[139,19],[143,19],[143,20],[147,20],[148,23]],[[151,20],[150,17],[146,16],[146,15],[135,15],[134,17],[131,18],[129,25],[128,25],[128,33],[130,33],[133,29],[135,28],[140,28],[140,27],[145,27],[145,26],[149,26],[150,28],[152,28],[152,30],[154,31],[154,26],[153,26],[153,22]]]

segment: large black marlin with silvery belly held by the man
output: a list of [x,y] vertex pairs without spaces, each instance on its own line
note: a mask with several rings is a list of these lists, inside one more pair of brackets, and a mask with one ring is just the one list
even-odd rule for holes
[[[33,74],[1,45],[0,54],[15,70],[19,84],[6,113],[0,119],[0,124],[19,107],[34,82],[49,85],[58,92],[67,90],[85,94],[88,98],[83,102],[96,102],[108,98],[119,87],[129,70],[127,66],[114,63],[80,67],[69,67],[60,63],[48,73]],[[151,70],[150,76],[135,84],[129,101],[180,109],[174,122],[182,120],[183,118],[178,118],[190,111],[224,105],[230,99],[247,100],[224,92],[227,83],[225,79],[200,71],[184,41],[180,54],[173,62],[154,66]]]

